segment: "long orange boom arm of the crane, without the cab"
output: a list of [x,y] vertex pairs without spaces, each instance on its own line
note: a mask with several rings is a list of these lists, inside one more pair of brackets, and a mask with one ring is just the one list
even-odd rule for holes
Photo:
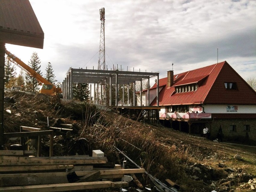
[[26,65],[22,60],[20,60],[17,56],[14,54],[10,53],[7,49],[5,49],[6,55],[8,55],[14,62],[15,64],[18,64],[21,66],[23,69],[25,69],[32,77],[34,77],[40,85],[42,84],[52,84],[49,81],[47,81],[45,78],[43,78],[40,74],[35,72],[31,67]]

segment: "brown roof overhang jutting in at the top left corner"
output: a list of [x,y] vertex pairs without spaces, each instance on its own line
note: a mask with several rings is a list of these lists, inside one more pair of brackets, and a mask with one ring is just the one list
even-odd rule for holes
[[44,32],[29,0],[0,1],[0,43],[43,48]]

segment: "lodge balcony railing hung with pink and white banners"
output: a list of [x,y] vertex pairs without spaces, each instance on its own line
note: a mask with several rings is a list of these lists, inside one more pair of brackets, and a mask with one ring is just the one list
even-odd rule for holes
[[211,119],[211,113],[159,113],[160,119]]

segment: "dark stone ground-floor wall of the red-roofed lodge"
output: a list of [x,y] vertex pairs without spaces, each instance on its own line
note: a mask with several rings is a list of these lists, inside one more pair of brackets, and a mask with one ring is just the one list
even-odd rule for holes
[[[235,125],[236,130],[230,131],[230,125]],[[244,125],[249,125],[249,131],[244,130]],[[220,126],[222,126],[224,141],[256,143],[256,119],[214,119],[211,126],[211,139],[217,138]]]

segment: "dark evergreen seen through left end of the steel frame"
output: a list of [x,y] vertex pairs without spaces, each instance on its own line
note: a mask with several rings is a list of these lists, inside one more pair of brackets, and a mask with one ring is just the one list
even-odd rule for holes
[[79,101],[88,101],[90,99],[90,90],[88,83],[74,83],[73,84],[73,99]]

